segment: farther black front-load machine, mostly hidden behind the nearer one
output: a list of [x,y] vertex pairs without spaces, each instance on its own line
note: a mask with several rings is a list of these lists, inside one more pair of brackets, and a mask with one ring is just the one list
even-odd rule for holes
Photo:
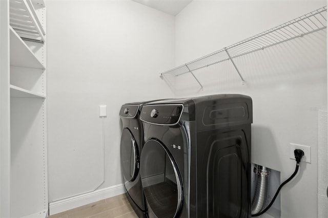
[[128,103],[122,105],[119,111],[122,124],[120,161],[128,200],[139,217],[146,217],[147,208],[139,175],[140,152],[144,145],[139,120],[141,107],[142,103]]

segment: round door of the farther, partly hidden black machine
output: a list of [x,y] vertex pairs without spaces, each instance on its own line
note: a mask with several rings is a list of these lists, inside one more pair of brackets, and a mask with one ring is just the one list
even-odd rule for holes
[[123,129],[121,136],[121,168],[124,178],[132,182],[138,175],[139,151],[134,137],[128,128]]

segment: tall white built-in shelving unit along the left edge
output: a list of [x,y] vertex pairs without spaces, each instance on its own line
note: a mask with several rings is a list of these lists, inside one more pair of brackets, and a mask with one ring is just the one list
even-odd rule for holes
[[9,190],[4,196],[2,191],[0,217],[46,217],[46,9],[34,0],[0,4],[0,112],[9,118],[1,119],[1,150],[7,151],[1,154],[7,160],[7,166],[1,163],[1,181],[9,177],[1,188]]

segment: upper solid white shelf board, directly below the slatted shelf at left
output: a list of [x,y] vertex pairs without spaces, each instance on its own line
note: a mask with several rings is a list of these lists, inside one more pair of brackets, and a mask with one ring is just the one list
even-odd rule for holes
[[10,66],[46,69],[12,27],[10,27]]

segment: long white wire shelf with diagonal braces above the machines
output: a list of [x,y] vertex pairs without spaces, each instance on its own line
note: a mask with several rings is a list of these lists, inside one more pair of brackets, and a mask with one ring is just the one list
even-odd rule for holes
[[265,48],[278,45],[279,43],[326,29],[326,11],[327,6],[324,6],[270,30],[239,41],[231,46],[225,47],[196,60],[190,61],[169,71],[160,73],[160,76],[172,77],[191,73],[201,88],[203,88],[193,72],[222,61],[231,60],[233,66],[240,76],[240,79],[242,80],[242,83],[244,83],[244,79],[242,78],[242,75],[239,72],[233,58],[263,50]]

